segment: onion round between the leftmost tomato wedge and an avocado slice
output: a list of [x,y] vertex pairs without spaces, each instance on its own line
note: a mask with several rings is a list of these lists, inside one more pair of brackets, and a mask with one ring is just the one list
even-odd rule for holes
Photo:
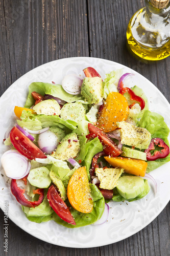
[[46,131],[38,136],[38,145],[43,153],[52,154],[56,150],[58,143],[57,135],[51,131]]

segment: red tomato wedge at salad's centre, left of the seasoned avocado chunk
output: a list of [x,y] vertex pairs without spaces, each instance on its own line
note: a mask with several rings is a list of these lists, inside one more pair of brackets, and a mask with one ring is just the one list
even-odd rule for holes
[[117,148],[116,143],[109,139],[106,134],[104,134],[98,127],[94,126],[91,123],[88,123],[89,133],[95,134],[103,145],[103,151],[110,156],[119,156],[122,151]]

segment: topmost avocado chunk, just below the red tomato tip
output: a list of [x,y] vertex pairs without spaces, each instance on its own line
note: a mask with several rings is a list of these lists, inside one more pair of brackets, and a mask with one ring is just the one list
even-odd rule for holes
[[82,83],[81,95],[90,104],[98,104],[103,100],[103,81],[101,77],[85,77]]

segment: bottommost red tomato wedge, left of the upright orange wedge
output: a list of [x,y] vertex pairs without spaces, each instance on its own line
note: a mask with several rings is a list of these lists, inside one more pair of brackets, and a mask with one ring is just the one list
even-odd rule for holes
[[63,220],[68,222],[69,224],[76,225],[74,218],[71,215],[71,212],[65,202],[61,199],[58,194],[57,189],[52,185],[48,189],[47,199],[50,203],[50,206],[56,212],[56,214]]

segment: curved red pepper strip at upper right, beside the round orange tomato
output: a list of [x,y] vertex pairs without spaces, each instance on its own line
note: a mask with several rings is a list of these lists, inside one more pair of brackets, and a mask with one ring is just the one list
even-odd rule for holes
[[[141,97],[137,96],[130,88],[124,87],[123,81],[121,81],[119,93],[124,95],[124,93],[126,93],[126,92],[128,92],[129,95],[131,96],[131,100],[135,100],[135,101],[139,102],[140,108],[141,108],[141,110],[143,110],[144,106],[145,106],[144,100]],[[129,108],[131,109],[133,105],[134,104],[130,105]]]

